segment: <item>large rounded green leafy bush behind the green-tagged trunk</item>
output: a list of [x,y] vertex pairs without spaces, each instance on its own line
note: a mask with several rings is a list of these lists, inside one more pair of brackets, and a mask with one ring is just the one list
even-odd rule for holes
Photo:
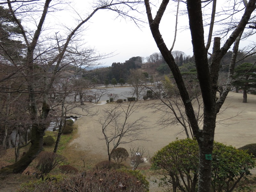
[[[188,192],[196,190],[199,166],[199,148],[196,140],[176,140],[159,150],[152,162],[153,168],[160,168],[158,172],[165,175],[160,182],[161,186]],[[255,160],[246,152],[214,142],[211,183],[213,191],[231,191],[253,167]],[[184,183],[181,178],[189,180]]]

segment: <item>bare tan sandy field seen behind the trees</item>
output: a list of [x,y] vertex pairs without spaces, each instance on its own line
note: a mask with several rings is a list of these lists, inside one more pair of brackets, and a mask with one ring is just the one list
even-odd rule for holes
[[[223,124],[216,125],[216,141],[237,148],[249,143],[255,143],[256,96],[248,95],[248,103],[242,103],[242,100],[243,95],[241,93],[230,92],[228,94],[228,98],[223,105],[223,108],[227,108],[224,113],[217,117],[217,120],[227,120],[221,121]],[[140,101],[140,104],[147,105],[150,102],[153,101]],[[111,104],[96,105],[93,110],[109,108],[110,105]],[[237,116],[237,114],[239,115]],[[148,118],[146,124],[148,127],[151,127],[143,133],[143,137],[148,141],[134,141],[125,145],[120,145],[119,147],[124,147],[129,151],[129,149],[134,146],[143,146],[149,149],[150,156],[153,156],[157,150],[161,149],[169,142],[172,142],[177,137],[179,139],[186,137],[185,133],[180,133],[182,130],[180,125],[172,125],[168,128],[161,129],[161,126],[156,124],[156,121],[160,118],[160,114],[155,113],[154,110],[150,108],[141,108],[139,111],[136,111],[131,116],[130,121],[134,121],[141,116],[146,116]],[[230,119],[230,117],[233,118]],[[105,140],[100,140],[104,138],[101,132],[101,126],[96,123],[97,119],[100,118],[102,118],[102,114],[92,117],[83,116],[77,120],[78,133],[76,139],[74,139],[67,147],[68,150],[74,150],[73,154],[80,154],[81,158],[82,156],[86,156],[86,159],[90,159],[90,162],[92,163],[107,160],[108,158]]]

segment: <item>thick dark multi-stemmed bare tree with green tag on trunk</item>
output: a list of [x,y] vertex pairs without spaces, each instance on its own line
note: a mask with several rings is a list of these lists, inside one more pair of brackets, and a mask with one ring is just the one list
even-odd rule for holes
[[[219,113],[219,110],[224,103],[228,92],[230,90],[232,76],[234,74],[234,67],[236,61],[236,55],[238,51],[239,41],[244,32],[246,25],[248,24],[252,12],[255,10],[256,0],[250,0],[246,4],[245,9],[241,9],[239,12],[241,14],[238,22],[232,27],[227,28],[226,30],[222,29],[222,34],[227,36],[226,42],[220,48],[220,37],[215,37],[213,41],[213,52],[211,63],[208,63],[208,48],[204,44],[204,24],[203,24],[203,13],[202,13],[202,1],[201,0],[188,0],[187,11],[189,19],[189,28],[192,37],[193,52],[195,56],[197,76],[200,84],[200,89],[202,92],[202,98],[204,102],[204,121],[203,128],[200,129],[198,122],[196,120],[195,112],[189,97],[188,91],[186,89],[183,78],[180,74],[177,63],[173,58],[172,53],[167,48],[164,39],[159,30],[160,21],[166,10],[166,6],[169,3],[169,0],[163,0],[158,12],[156,13],[155,18],[153,18],[151,13],[151,8],[149,0],[145,0],[145,7],[148,16],[148,23],[150,30],[155,39],[155,42],[162,53],[164,60],[170,67],[176,84],[178,86],[182,102],[186,109],[186,114],[189,119],[189,123],[195,135],[195,138],[198,142],[200,157],[199,157],[199,183],[198,191],[199,192],[208,192],[211,189],[211,160],[206,158],[207,154],[212,154],[213,141],[214,141],[214,131],[216,125],[216,116]],[[206,5],[208,5],[206,1]],[[216,1],[213,1],[216,3]],[[238,4],[236,4],[238,5]],[[235,6],[236,6],[235,5]],[[230,9],[231,12],[233,8]],[[232,12],[233,14],[234,12]],[[212,8],[212,15],[215,15],[214,5]],[[233,18],[233,17],[232,17]],[[227,19],[227,18],[226,18]],[[228,21],[230,24],[230,20]],[[214,17],[212,16],[212,22],[214,22]],[[210,28],[211,30],[211,28]],[[208,41],[210,43],[212,40]],[[218,76],[220,71],[220,60],[227,53],[230,46],[234,43],[233,55],[230,62],[229,74],[226,81],[226,86],[223,89],[223,92],[219,99],[216,98],[216,92],[218,89]]]

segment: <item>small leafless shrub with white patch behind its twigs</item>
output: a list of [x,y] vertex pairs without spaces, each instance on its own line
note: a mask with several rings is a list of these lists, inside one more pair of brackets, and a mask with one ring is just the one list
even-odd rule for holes
[[131,152],[131,165],[132,170],[136,170],[139,164],[148,161],[149,159],[149,150],[144,147],[138,146],[130,148]]

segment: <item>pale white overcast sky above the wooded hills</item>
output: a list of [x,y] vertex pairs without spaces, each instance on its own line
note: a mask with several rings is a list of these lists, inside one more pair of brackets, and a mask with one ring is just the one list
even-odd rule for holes
[[[82,14],[91,13],[91,2],[93,0],[75,0],[71,7],[76,12]],[[151,1],[153,2],[153,1]],[[155,0],[154,2],[159,2]],[[221,1],[218,1],[221,3]],[[217,9],[222,9],[223,5],[218,3]],[[223,2],[222,2],[223,3]],[[175,14],[176,3],[170,1],[166,14],[164,14],[160,23],[160,32],[164,38],[165,44],[170,49],[172,46],[174,31],[175,31]],[[180,5],[181,7],[185,4]],[[152,7],[153,17],[156,8]],[[204,13],[211,10],[203,10]],[[142,6],[140,12],[145,22],[147,22],[146,12],[144,6]],[[180,14],[180,13],[179,13]],[[65,21],[65,24],[76,24],[74,20],[69,16],[69,13],[61,12],[60,17]],[[89,22],[86,23],[86,30],[83,31],[83,38],[86,45],[94,47],[100,53],[113,53],[113,57],[102,60],[104,66],[110,66],[113,62],[124,62],[131,57],[141,56],[147,57],[154,52],[159,52],[156,43],[152,37],[148,23],[143,24],[138,28],[134,22],[127,19],[116,18],[116,13],[112,11],[100,10],[96,12]],[[83,17],[83,19],[85,16]],[[182,51],[186,55],[193,55],[193,49],[191,44],[191,35],[188,30],[188,16],[187,14],[180,15],[178,18],[178,32],[176,37],[176,43],[173,51]],[[187,29],[186,29],[187,28]],[[216,29],[216,27],[214,27]],[[205,34],[208,34],[208,28],[205,28]],[[206,36],[206,35],[205,35]],[[253,39],[253,37],[252,37]],[[207,39],[205,38],[205,41]],[[225,41],[225,38],[222,39]],[[250,41],[242,42],[242,46],[245,46]],[[211,48],[209,52],[212,52]]]

